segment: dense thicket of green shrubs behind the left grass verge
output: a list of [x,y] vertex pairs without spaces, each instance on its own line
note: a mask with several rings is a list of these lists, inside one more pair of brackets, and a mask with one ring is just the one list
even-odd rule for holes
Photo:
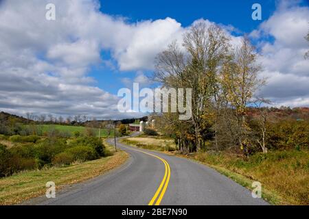
[[74,161],[84,162],[98,159],[100,156],[112,155],[105,149],[102,141],[95,137],[80,137],[69,144],[66,138],[55,137],[54,133],[46,139],[38,136],[16,135],[11,136],[10,140],[22,143],[16,143],[10,149],[0,144],[0,177],[12,175],[21,170],[69,165]]

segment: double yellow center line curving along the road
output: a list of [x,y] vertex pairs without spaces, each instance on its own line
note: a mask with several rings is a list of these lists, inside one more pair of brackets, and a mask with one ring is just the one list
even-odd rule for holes
[[[122,146],[124,146],[122,144]],[[132,149],[132,148],[129,148],[127,146],[124,146],[125,148],[127,149],[131,149],[133,151],[138,151],[138,152],[141,152],[141,153],[145,153],[146,155],[150,155],[152,157],[156,157],[157,159],[161,160],[161,162],[163,162],[164,166],[165,166],[165,173],[164,173],[164,177],[159,185],[159,188],[157,189],[155,195],[151,198],[150,202],[148,203],[148,205],[160,205],[161,201],[162,201],[162,198],[168,188],[168,183],[170,181],[170,165],[168,164],[168,162],[157,156],[157,155],[152,155],[151,153],[147,153],[145,151],[139,151],[139,150],[136,150],[136,149]]]

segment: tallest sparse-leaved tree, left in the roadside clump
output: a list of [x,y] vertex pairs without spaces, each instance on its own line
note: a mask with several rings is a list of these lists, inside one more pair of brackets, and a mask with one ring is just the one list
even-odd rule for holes
[[[179,44],[172,42],[168,49],[159,53],[156,58],[154,79],[166,88],[192,88],[192,119],[193,133],[190,130],[181,135],[194,135],[194,147],[201,149],[201,142],[205,135],[203,127],[207,108],[211,107],[216,92],[217,75],[220,66],[228,56],[229,38],[216,25],[196,23],[183,37],[183,53]],[[205,114],[206,113],[206,114]],[[174,121],[179,123],[187,121]],[[203,124],[204,123],[204,124]],[[189,127],[188,127],[189,128]],[[181,138],[184,138],[182,136]],[[191,144],[187,142],[188,144]]]

